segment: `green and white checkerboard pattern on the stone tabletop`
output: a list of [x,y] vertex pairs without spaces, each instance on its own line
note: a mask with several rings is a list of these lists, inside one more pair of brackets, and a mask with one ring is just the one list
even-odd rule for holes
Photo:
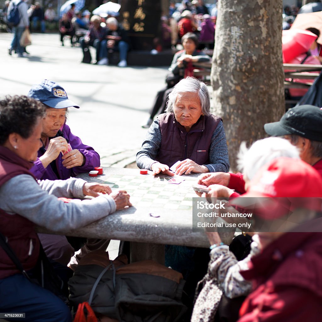
[[112,189],[126,190],[134,206],[163,206],[165,209],[192,209],[192,198],[197,195],[191,185],[193,181],[185,180],[180,184],[170,184],[171,177],[154,177],[152,175],[111,175],[105,184]]

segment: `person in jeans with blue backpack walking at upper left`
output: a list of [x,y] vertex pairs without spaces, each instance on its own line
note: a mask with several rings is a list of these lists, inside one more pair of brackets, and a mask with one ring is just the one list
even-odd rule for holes
[[11,0],[8,7],[8,14],[16,5],[18,6],[20,21],[18,25],[12,28],[14,36],[12,38],[8,53],[11,56],[12,51],[16,49],[16,51],[18,52],[18,57],[24,57],[24,48],[20,46],[20,38],[24,30],[29,29],[29,19],[27,14],[28,5],[21,0]]

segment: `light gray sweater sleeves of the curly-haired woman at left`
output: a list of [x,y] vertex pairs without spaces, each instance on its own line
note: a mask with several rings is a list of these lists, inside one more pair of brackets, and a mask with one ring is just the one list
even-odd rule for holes
[[86,181],[44,180],[37,182],[30,175],[17,175],[0,187],[0,208],[8,214],[20,214],[33,223],[52,231],[85,226],[116,210],[109,195],[64,203],[57,197],[83,197]]

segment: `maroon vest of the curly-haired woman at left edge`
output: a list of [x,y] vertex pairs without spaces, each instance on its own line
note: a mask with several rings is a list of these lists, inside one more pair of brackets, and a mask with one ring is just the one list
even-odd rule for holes
[[[32,163],[21,159],[6,147],[0,146],[0,186],[16,175],[28,174]],[[8,243],[25,270],[36,265],[39,255],[39,239],[34,223],[18,215],[10,215],[0,209],[0,232],[8,238]],[[13,261],[0,247],[0,279],[19,273]]]

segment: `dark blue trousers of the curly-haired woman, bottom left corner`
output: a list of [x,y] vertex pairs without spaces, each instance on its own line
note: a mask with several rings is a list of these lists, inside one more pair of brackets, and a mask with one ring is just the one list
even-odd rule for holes
[[0,279],[0,298],[0,312],[25,313],[25,318],[8,321],[72,321],[70,309],[60,298],[22,274]]

